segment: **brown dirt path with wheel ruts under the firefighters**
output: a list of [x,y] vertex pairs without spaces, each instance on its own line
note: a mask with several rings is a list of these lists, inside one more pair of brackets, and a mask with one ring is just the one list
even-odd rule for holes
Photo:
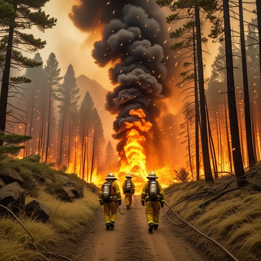
[[[115,228],[106,230],[103,220],[103,210],[83,242],[73,261],[106,260],[106,261],[202,261],[195,251],[173,232],[173,225],[164,217],[161,210],[159,229],[148,232],[145,208],[136,195],[132,207],[126,211],[122,200]],[[165,206],[166,207],[166,206]]]

